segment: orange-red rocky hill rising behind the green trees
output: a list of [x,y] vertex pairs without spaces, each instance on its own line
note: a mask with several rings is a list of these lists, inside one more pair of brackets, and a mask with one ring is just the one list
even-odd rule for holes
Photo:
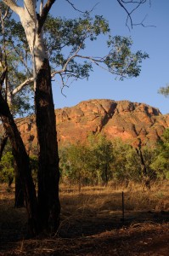
[[[90,100],[56,109],[55,113],[60,145],[84,142],[92,132],[106,134],[110,140],[121,137],[135,146],[138,138],[144,145],[152,145],[169,127],[169,114],[162,115],[158,108],[137,102]],[[28,151],[36,147],[35,117],[17,119],[17,125]]]

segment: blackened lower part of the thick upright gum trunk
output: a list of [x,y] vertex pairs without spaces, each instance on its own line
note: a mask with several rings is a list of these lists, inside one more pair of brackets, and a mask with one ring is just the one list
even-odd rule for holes
[[38,207],[42,230],[55,232],[59,227],[59,156],[56,119],[48,60],[37,73],[35,92],[37,139],[39,148]]

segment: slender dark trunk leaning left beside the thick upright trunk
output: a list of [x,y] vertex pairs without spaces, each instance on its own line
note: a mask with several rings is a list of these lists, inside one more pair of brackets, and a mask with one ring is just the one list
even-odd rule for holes
[[30,161],[26,154],[24,143],[20,137],[20,132],[10,110],[8,103],[4,101],[0,93],[0,116],[3,121],[3,127],[8,135],[13,148],[14,158],[20,173],[20,181],[25,195],[25,207],[28,214],[28,224],[32,235],[38,232],[37,218],[37,196],[36,190],[31,177]]

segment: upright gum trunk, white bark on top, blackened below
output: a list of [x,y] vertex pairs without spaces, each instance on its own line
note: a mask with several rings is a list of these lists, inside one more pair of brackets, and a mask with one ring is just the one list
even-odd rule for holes
[[[38,217],[41,230],[56,231],[59,226],[59,156],[51,86],[51,70],[45,50],[42,26],[55,0],[41,3],[36,12],[36,0],[24,0],[20,7],[13,0],[3,0],[17,15],[25,30],[33,63],[35,108],[38,144]],[[21,179],[24,177],[20,177]],[[26,195],[27,196],[27,195]]]

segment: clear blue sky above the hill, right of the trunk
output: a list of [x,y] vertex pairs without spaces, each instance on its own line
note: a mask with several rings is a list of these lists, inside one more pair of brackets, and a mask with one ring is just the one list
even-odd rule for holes
[[[97,0],[72,0],[78,9],[91,9]],[[55,108],[71,107],[81,101],[89,99],[112,99],[115,101],[128,100],[131,102],[144,102],[152,107],[159,108],[161,113],[169,113],[169,98],[161,96],[157,90],[169,83],[169,1],[151,0],[149,4],[143,5],[133,16],[133,22],[144,20],[144,25],[134,26],[129,32],[126,23],[126,14],[116,0],[99,0],[93,10],[93,15],[104,15],[110,22],[113,35],[131,36],[133,50],[142,49],[149,54],[149,59],[142,65],[142,72],[138,78],[115,80],[115,76],[99,67],[94,68],[89,80],[79,80],[65,88],[63,96],[59,84],[54,82],[54,105]],[[74,9],[64,0],[54,3],[53,15],[76,17]],[[88,55],[100,55],[104,53],[104,42],[100,38],[97,43],[89,44]],[[97,54],[98,53],[98,54]]]

